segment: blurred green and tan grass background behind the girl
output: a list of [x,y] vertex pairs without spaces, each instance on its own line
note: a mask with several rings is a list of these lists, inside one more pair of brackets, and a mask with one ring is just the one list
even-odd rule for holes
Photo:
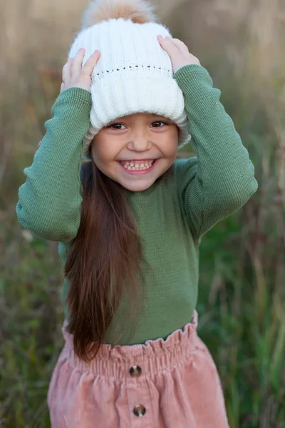
[[[202,240],[199,335],[217,363],[230,427],[283,428],[285,3],[155,3],[221,89],[259,182],[257,194]],[[63,275],[57,244],[23,230],[15,206],[87,4],[0,4],[1,427],[50,426],[46,393],[63,346]]]

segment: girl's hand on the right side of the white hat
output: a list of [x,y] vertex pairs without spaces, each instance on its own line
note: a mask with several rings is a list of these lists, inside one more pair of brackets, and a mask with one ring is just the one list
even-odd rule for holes
[[157,40],[160,43],[160,46],[170,56],[173,73],[176,73],[180,68],[190,64],[201,66],[199,59],[190,54],[187,46],[181,40],[172,39],[168,36],[166,36],[165,39],[162,36],[157,36]]

